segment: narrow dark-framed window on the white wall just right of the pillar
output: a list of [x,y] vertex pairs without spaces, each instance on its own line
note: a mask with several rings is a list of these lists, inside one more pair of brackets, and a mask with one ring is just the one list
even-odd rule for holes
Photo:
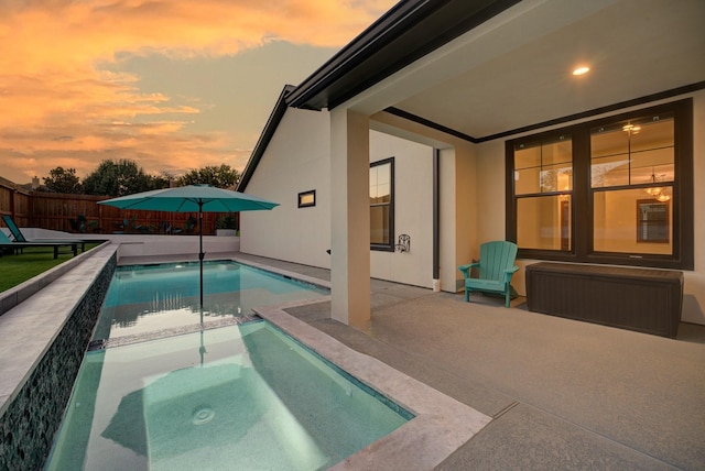
[[394,250],[394,157],[370,164],[370,249]]

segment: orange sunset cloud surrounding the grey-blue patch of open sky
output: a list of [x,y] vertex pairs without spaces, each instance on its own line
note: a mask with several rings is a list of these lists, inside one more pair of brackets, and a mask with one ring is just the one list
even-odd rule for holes
[[232,130],[188,131],[210,105],[145,92],[139,76],[119,72],[121,61],[150,54],[217,58],[270,41],[340,47],[393,3],[0,2],[0,175],[24,183],[62,165],[85,176],[104,158],[132,158],[153,173],[223,162],[241,168],[256,135],[242,142]]

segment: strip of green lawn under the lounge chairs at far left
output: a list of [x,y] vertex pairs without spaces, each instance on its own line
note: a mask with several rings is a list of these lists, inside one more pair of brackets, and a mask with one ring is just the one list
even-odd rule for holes
[[[99,243],[87,243],[86,250],[96,245]],[[0,292],[10,289],[73,258],[74,254],[69,248],[59,248],[56,260],[54,260],[54,249],[51,247],[26,248],[19,255],[4,253],[0,256]]]

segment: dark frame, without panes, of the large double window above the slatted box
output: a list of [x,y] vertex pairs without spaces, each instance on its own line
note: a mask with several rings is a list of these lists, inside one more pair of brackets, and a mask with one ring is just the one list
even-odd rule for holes
[[[674,125],[674,182],[673,253],[669,255],[648,253],[596,252],[594,248],[593,195],[604,188],[590,185],[590,129],[626,121],[644,114],[673,113]],[[550,260],[575,263],[616,264],[650,266],[674,270],[694,269],[694,183],[693,183],[693,99],[687,98],[670,103],[642,108],[597,120],[585,121],[568,127],[508,140],[506,154],[506,237],[517,242],[517,197],[514,195],[514,149],[521,143],[549,140],[555,135],[570,134],[573,139],[573,197],[571,251],[553,251],[519,248],[521,259]],[[618,189],[620,187],[615,187]]]

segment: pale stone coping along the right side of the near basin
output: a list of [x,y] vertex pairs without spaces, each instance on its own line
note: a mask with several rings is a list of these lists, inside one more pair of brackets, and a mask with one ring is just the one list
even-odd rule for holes
[[[293,277],[295,274],[291,275]],[[415,416],[390,435],[330,469],[431,470],[490,423],[491,417],[372,357],[352,350],[284,310],[321,302],[321,298],[316,298],[264,306],[253,310],[261,318]]]

